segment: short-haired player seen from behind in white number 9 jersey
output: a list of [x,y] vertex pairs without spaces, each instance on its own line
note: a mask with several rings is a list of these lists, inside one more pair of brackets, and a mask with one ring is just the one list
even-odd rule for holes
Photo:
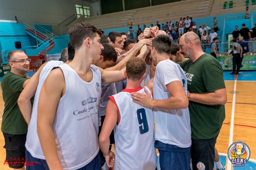
[[[99,137],[100,148],[107,165],[115,169],[155,170],[157,155],[154,147],[153,111],[132,102],[131,92],[145,93],[149,89],[140,83],[144,79],[146,63],[132,58],[126,63],[127,86],[122,92],[110,96],[106,118]],[[148,92],[150,93],[150,92]],[[116,126],[117,125],[117,126]],[[109,151],[109,135],[116,126],[115,161]]]

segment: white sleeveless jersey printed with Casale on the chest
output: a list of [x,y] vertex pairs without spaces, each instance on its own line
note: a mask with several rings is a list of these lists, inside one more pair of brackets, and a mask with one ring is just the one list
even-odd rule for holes
[[101,74],[91,65],[93,79],[85,82],[69,65],[60,68],[66,90],[58,103],[53,131],[63,169],[75,170],[90,163],[99,152]]

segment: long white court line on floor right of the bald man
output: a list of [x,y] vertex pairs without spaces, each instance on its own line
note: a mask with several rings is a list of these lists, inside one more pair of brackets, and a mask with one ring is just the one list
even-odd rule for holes
[[[236,104],[236,93],[235,93],[235,91],[236,91],[236,82],[237,82],[236,77],[235,77],[234,94],[233,94],[233,101],[232,101],[232,113],[231,113],[230,133],[229,133],[229,144],[228,144],[228,146],[230,146],[233,143],[235,104]],[[232,164],[229,160],[228,160],[226,170],[232,170]]]

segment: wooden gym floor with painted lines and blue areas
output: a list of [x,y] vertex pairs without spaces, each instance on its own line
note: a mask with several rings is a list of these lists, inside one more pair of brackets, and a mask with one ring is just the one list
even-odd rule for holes
[[[224,71],[224,79],[227,90],[226,119],[223,122],[220,134],[217,139],[216,148],[219,155],[227,156],[227,150],[230,144],[237,140],[245,142],[250,150],[249,159],[252,164],[246,169],[256,169],[256,71],[243,71],[239,75],[229,75],[230,71]],[[2,89],[0,88],[0,123],[2,124],[2,115],[4,102]],[[5,161],[5,149],[3,133],[0,133],[0,170],[10,170],[8,165],[3,165]],[[226,162],[223,162],[226,160]],[[241,169],[232,168],[228,158],[221,158],[226,170]]]

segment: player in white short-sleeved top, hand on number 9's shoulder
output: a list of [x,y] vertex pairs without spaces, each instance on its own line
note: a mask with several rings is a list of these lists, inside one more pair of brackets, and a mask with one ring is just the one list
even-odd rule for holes
[[154,108],[155,147],[159,150],[161,170],[189,170],[191,128],[188,111],[187,81],[184,71],[169,58],[171,39],[167,35],[152,40],[151,56],[156,72],[154,100],[150,93],[132,92],[135,103]]

